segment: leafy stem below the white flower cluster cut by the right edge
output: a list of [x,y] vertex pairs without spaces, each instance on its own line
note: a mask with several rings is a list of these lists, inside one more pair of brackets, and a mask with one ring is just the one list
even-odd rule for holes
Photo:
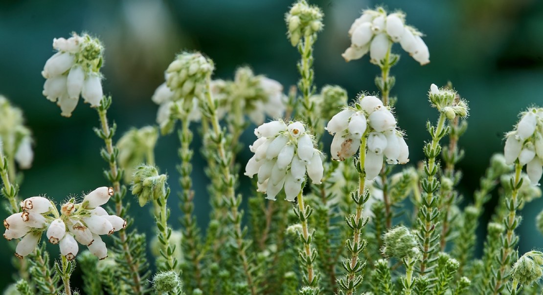
[[507,210],[509,211],[509,214],[507,215],[506,219],[504,219],[503,223],[506,227],[506,234],[502,233],[501,238],[504,241],[503,245],[503,251],[501,251],[501,255],[498,254],[500,257],[500,280],[496,279],[496,284],[494,285],[494,291],[493,294],[497,295],[501,292],[504,283],[506,283],[508,275],[507,271],[510,267],[510,262],[512,262],[512,252],[513,248],[515,247],[516,243],[518,242],[518,239],[515,235],[515,228],[519,224],[519,220],[517,220],[516,217],[516,209],[519,207],[519,202],[517,200],[517,196],[519,195],[519,188],[520,188],[520,176],[522,172],[522,165],[517,160],[515,162],[515,177],[513,179],[513,187],[512,187],[512,194],[510,198],[507,198]]

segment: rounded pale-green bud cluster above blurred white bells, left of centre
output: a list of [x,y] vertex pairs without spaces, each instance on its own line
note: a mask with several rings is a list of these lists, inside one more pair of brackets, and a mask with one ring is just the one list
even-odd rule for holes
[[201,98],[213,69],[213,61],[201,53],[179,54],[166,69],[166,85],[174,93],[173,100]]

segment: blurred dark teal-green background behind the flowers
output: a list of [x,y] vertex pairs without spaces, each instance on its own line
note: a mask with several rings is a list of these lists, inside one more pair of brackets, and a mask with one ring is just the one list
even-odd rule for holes
[[[325,29],[314,52],[315,84],[319,90],[326,84],[343,86],[351,99],[361,91],[376,91],[377,67],[367,56],[349,63],[340,56],[350,44],[347,31],[362,9],[377,4],[401,9],[407,14],[407,23],[427,35],[429,65],[419,66],[397,44],[393,49],[403,57],[392,69],[396,76],[392,94],[399,97],[399,126],[408,134],[411,162],[416,163],[422,156],[422,143],[428,139],[425,122],[437,117],[426,99],[428,88],[431,83],[453,82],[471,108],[470,127],[460,141],[466,156],[459,164],[464,171],[462,190],[465,199],[471,200],[490,155],[502,150],[503,133],[512,129],[516,114],[527,106],[543,105],[543,1],[311,3],[325,13]],[[98,126],[96,111],[80,102],[71,118],[63,118],[60,109],[41,94],[45,80],[40,72],[53,54],[54,37],[87,31],[103,41],[103,86],[113,97],[109,115],[118,124],[118,138],[131,126],[154,124],[157,106],[150,97],[181,49],[210,56],[216,64],[216,78],[232,79],[237,66],[249,65],[256,74],[266,74],[285,88],[294,85],[299,55],[286,39],[283,21],[290,4],[283,0],[0,2],[0,93],[23,109],[35,138],[35,161],[33,168],[24,172],[21,196],[47,194],[61,201],[107,185],[102,175],[106,164],[99,156],[103,143],[92,132],[92,127]],[[246,132],[242,140],[249,144],[254,136]],[[331,139],[325,136],[325,140]],[[156,149],[156,162],[161,172],[169,174],[174,192],[179,191],[176,149],[174,136],[160,138]],[[198,151],[199,144],[193,149]],[[241,161],[249,157],[248,149],[239,156]],[[194,161],[195,207],[198,223],[205,227],[210,207],[199,152]],[[179,228],[178,200],[170,200],[171,222]],[[485,218],[495,204],[495,200],[488,204]],[[520,253],[541,249],[543,237],[535,229],[534,219],[542,205],[542,199],[536,200],[522,212]],[[137,216],[138,228],[150,232],[147,209],[134,203],[131,211],[137,214],[132,216]],[[11,274],[9,261],[14,256],[4,239],[0,239],[0,249],[7,249],[0,253],[2,274]],[[57,253],[52,252],[53,257]],[[10,275],[0,276],[0,290],[8,280]]]

